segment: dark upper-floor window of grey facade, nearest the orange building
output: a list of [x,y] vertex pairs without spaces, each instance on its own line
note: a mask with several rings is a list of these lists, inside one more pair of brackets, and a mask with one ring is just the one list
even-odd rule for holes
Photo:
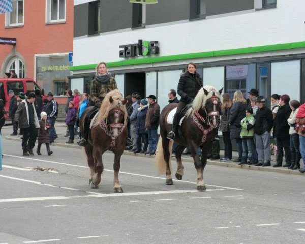
[[88,35],[99,34],[101,31],[100,1],[89,2]]

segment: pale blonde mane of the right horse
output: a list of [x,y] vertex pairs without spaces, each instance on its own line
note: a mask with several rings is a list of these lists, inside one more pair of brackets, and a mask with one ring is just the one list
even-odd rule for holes
[[[208,91],[208,94],[205,95],[204,90]],[[192,111],[199,111],[201,108],[203,108],[207,102],[208,99],[210,99],[213,96],[213,92],[215,94],[215,96],[217,96],[219,98],[219,100],[222,102],[222,95],[218,92],[217,89],[215,89],[214,86],[211,85],[205,85],[203,86],[203,88],[201,88],[199,90],[199,92],[197,93],[193,103],[192,103],[192,107],[188,110],[187,112],[187,117],[191,115]]]

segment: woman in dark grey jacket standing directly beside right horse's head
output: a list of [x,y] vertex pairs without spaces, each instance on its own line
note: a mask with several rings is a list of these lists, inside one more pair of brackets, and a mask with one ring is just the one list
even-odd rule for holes
[[222,132],[224,145],[225,145],[225,155],[222,160],[231,160],[232,159],[232,143],[230,139],[230,128],[229,128],[229,118],[230,110],[232,107],[232,99],[228,93],[223,95],[223,103],[221,105],[221,117],[219,131]]

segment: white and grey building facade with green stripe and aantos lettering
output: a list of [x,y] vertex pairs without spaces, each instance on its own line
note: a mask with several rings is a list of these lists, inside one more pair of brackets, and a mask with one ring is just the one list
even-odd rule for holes
[[[299,0],[74,1],[71,88],[89,92],[100,61],[124,96],[160,107],[189,62],[204,85],[233,95],[251,88],[305,102],[305,2]],[[267,103],[270,106],[270,103]]]

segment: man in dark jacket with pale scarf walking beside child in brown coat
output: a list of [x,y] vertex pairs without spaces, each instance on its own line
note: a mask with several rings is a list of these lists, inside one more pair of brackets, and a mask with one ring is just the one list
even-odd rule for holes
[[19,104],[15,113],[15,121],[23,131],[22,150],[23,156],[33,156],[33,148],[40,128],[38,117],[35,111],[35,93],[29,93],[27,99]]

